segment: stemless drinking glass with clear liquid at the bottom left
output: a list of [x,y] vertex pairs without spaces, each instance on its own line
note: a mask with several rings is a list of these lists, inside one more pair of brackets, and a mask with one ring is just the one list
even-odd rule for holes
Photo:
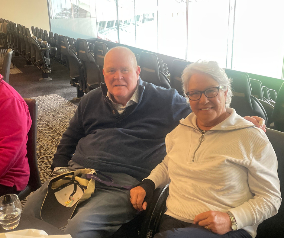
[[5,230],[18,226],[22,206],[16,194],[7,194],[0,197],[0,224]]

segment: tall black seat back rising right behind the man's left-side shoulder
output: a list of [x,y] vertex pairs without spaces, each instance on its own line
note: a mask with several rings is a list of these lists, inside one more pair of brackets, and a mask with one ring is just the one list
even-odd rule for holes
[[102,79],[99,66],[96,64],[95,56],[89,50],[87,40],[78,38],[76,40],[76,52],[83,63],[84,76],[87,82],[86,92],[100,87]]

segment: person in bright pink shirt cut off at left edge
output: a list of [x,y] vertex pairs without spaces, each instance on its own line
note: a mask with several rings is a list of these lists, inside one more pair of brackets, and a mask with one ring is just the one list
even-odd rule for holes
[[0,74],[0,196],[22,191],[29,181],[27,133],[31,127],[28,106]]

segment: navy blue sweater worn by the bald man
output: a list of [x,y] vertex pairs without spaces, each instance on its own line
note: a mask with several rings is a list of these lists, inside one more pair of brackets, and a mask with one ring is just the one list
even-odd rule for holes
[[138,103],[121,115],[106,98],[105,84],[83,96],[51,168],[68,166],[72,159],[86,168],[122,172],[139,181],[147,177],[166,155],[166,134],[191,109],[175,89],[138,82]]

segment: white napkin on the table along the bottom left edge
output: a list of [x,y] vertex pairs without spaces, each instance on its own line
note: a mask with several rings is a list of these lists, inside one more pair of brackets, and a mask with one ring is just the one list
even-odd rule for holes
[[45,231],[36,230],[36,229],[15,230],[6,233],[0,233],[0,238],[31,238],[31,237],[72,238],[71,235],[49,236]]

